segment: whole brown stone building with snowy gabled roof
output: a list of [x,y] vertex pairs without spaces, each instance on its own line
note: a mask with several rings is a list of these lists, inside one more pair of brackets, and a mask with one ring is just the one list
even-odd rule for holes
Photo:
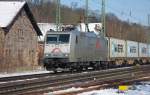
[[38,65],[40,35],[26,2],[0,1],[0,71]]

